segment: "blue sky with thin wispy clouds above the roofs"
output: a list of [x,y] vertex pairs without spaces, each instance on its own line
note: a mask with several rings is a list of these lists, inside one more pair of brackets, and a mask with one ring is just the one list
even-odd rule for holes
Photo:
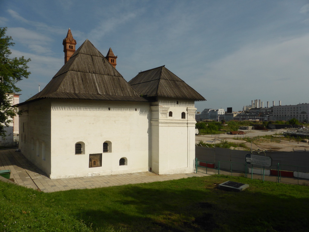
[[12,56],[31,58],[18,87],[25,101],[64,64],[71,29],[89,39],[129,81],[165,65],[193,87],[205,108],[241,110],[251,100],[308,102],[309,1],[17,1],[0,0]]

